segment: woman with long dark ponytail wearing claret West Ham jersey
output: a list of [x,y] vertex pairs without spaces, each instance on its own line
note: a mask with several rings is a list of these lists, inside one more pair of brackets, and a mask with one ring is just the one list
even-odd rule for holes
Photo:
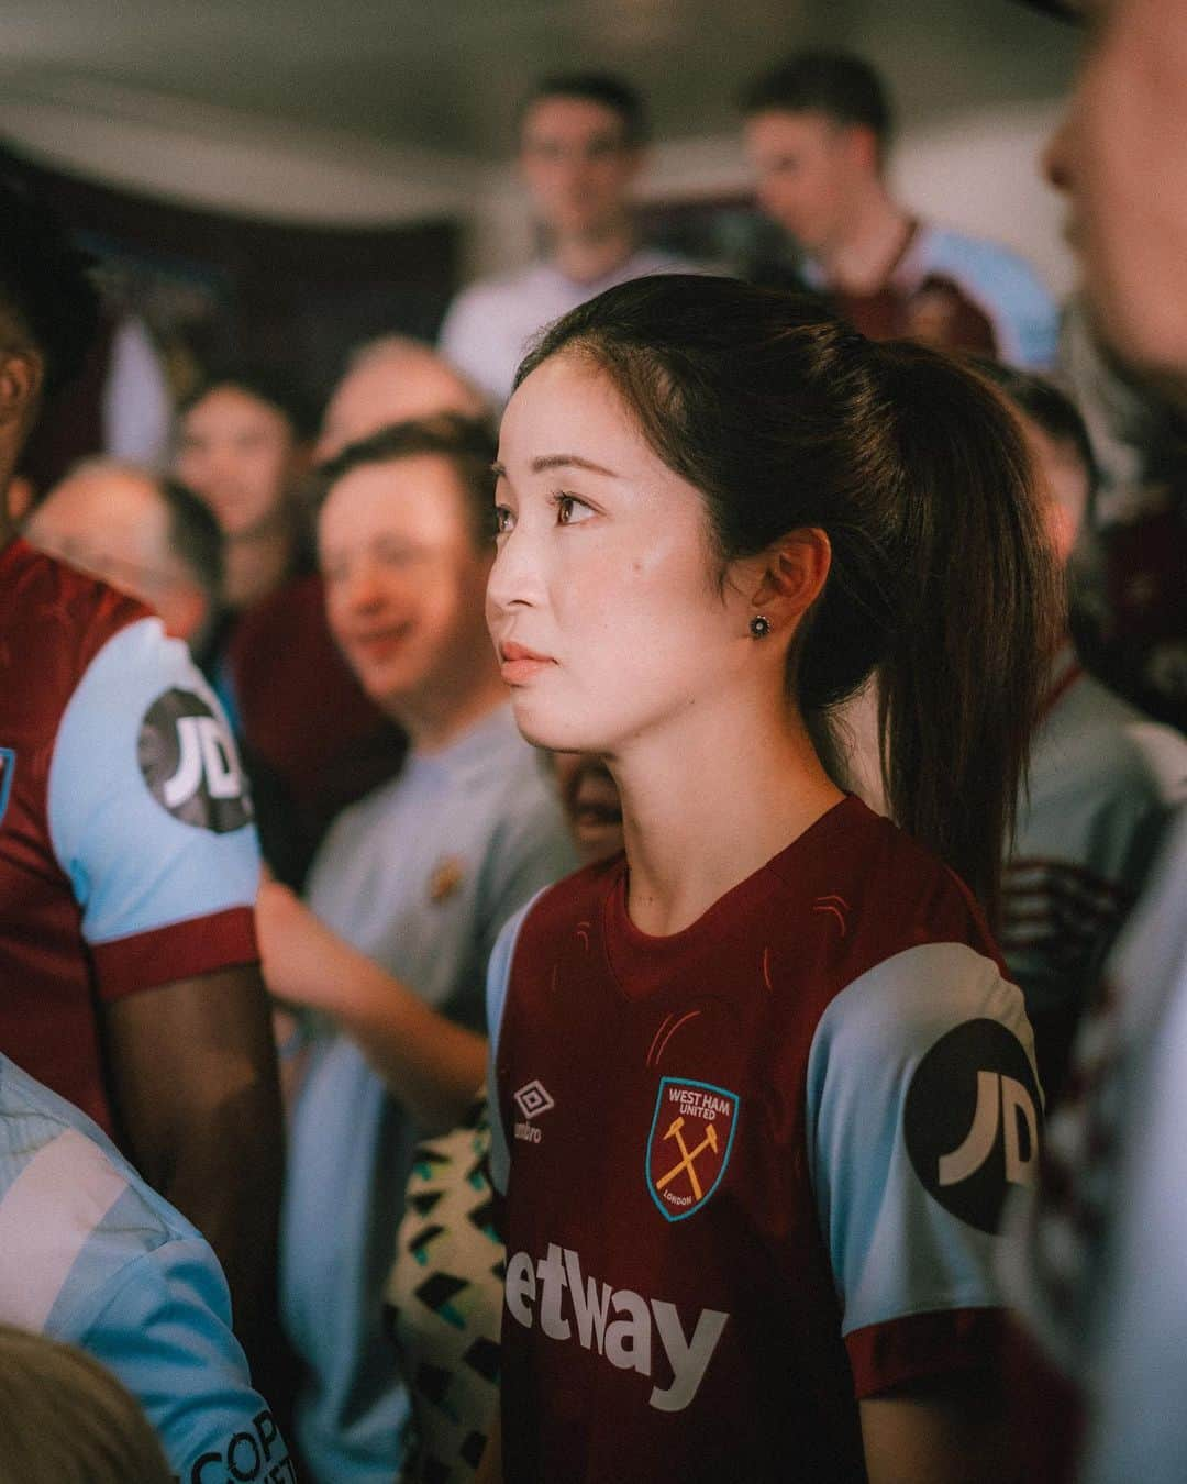
[[[1018,430],[942,356],[651,278],[519,370],[488,617],[626,850],[490,972],[488,1478],[1000,1480],[994,1251],[1042,1097],[985,926],[1053,643]],[[887,797],[812,736],[877,668]]]

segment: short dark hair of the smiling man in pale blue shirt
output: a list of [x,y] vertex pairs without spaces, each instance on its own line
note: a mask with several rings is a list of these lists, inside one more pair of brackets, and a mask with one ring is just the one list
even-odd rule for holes
[[436,454],[448,459],[457,470],[469,499],[475,545],[487,546],[494,540],[491,464],[497,451],[494,432],[485,418],[438,413],[433,417],[392,423],[369,438],[347,444],[341,453],[318,469],[312,491],[313,508],[320,509],[334,485],[353,469]]

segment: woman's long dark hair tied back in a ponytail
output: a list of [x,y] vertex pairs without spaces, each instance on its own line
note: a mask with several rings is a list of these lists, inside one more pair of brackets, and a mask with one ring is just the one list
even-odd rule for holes
[[823,592],[788,656],[806,715],[878,668],[895,818],[997,907],[1056,632],[1031,466],[1002,399],[948,358],[874,344],[795,294],[663,275],[549,326],[610,378],[708,508],[726,564],[821,527]]

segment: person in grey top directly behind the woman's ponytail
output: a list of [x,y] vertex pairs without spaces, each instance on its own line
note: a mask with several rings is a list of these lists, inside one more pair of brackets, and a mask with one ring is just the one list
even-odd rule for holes
[[[1018,411],[1067,571],[1095,469],[1088,429],[1050,381],[981,367]],[[1065,637],[1050,665],[1025,798],[1006,862],[1000,942],[1034,1028],[1048,1109],[1105,956],[1187,803],[1187,742],[1083,671]]]

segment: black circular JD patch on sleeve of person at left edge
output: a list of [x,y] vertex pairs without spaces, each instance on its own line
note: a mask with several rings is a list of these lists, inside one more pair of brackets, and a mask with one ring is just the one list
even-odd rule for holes
[[174,819],[228,834],[251,819],[234,742],[202,696],[166,690],[145,711],[137,761],[153,798]]

